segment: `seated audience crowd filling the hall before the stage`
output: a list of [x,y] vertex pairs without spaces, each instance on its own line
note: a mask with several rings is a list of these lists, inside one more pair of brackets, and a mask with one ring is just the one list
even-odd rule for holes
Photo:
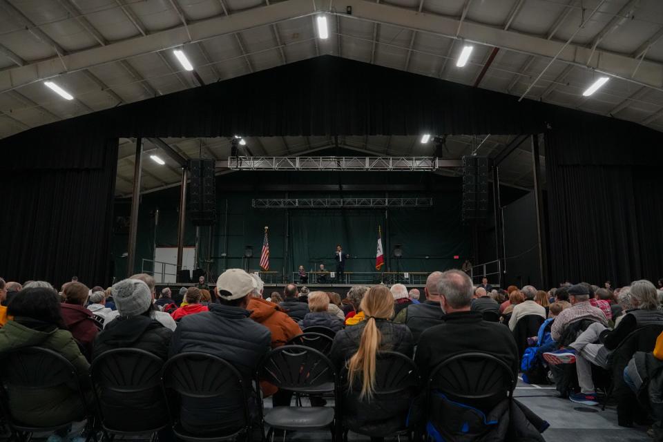
[[[617,411],[619,425],[630,426],[663,418],[661,393],[652,397],[649,392],[652,385],[663,385],[661,283],[657,288],[637,280],[613,289],[610,282],[600,288],[565,282],[549,291],[532,285],[503,290],[487,278],[473,285],[464,271],[448,270],[430,273],[423,294],[394,284],[352,287],[341,298],[296,284],[266,294],[257,274],[240,269],[224,271],[213,289],[202,279],[177,294],[166,287],[158,296],[155,280],[144,273],[108,289],[73,280],[57,291],[44,281],[0,279],[0,353],[52,349],[73,364],[87,385],[90,363],[111,349],[142,349],[162,361],[203,352],[231,363],[251,385],[269,349],[286,345],[309,327],[325,327],[334,336],[329,360],[338,372],[347,370],[347,387],[358,401],[369,403],[374,397],[381,352],[412,358],[424,381],[448,358],[480,352],[506,363],[514,379],[520,372],[526,382],[555,383],[561,396],[584,405],[598,405],[596,373],[608,372],[613,386],[626,385],[617,397]],[[653,340],[632,343],[644,330],[655,333]],[[651,348],[645,341],[651,341]],[[624,343],[630,343],[626,358]],[[274,406],[291,403],[291,392],[266,382],[260,387]],[[250,393],[249,401],[260,399]],[[79,416],[79,403],[71,395],[62,387],[14,388],[7,399],[12,416],[27,425],[48,426]],[[317,395],[310,399],[314,406],[326,403]],[[634,403],[642,412],[634,411]],[[470,405],[488,414],[498,403]],[[232,407],[222,399],[185,398],[180,419],[193,434],[218,432],[234,421]],[[371,427],[381,416],[360,410],[354,419]],[[659,428],[653,425],[654,432]],[[49,442],[66,436],[66,430],[59,430]]]

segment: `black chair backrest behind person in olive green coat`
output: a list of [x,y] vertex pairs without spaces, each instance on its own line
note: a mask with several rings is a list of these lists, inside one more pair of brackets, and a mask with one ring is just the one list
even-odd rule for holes
[[[0,405],[10,425],[27,428],[21,416],[15,416],[8,401],[8,390],[44,390],[68,386],[81,403],[81,410],[89,410],[76,368],[67,358],[53,350],[42,347],[22,347],[0,354]],[[69,399],[71,400],[71,399]],[[54,409],[56,410],[56,409]],[[57,415],[55,411],[55,415]],[[46,416],[44,416],[46,417]],[[80,416],[83,418],[84,416]],[[61,422],[58,425],[66,425]],[[39,427],[32,427],[37,430]]]

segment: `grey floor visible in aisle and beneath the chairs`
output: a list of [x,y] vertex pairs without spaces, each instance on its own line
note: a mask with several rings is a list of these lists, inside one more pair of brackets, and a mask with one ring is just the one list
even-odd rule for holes
[[[642,442],[652,439],[646,434],[646,427],[623,428],[617,425],[615,404],[608,403],[605,411],[601,407],[588,407],[556,397],[557,390],[550,385],[528,385],[518,381],[514,397],[550,423],[544,432],[548,442]],[[303,405],[309,405],[307,399]],[[271,407],[271,399],[265,400],[265,407]],[[35,434],[35,441],[44,441],[48,434]],[[116,438],[121,440],[125,438]],[[146,441],[136,437],[126,438],[133,441]],[[350,433],[349,441],[369,441],[366,436]],[[5,440],[0,435],[0,441]],[[282,439],[278,438],[278,442]],[[393,439],[396,441],[396,438]],[[300,432],[287,434],[287,441],[296,442],[331,442],[329,432]],[[403,439],[405,441],[405,439]]]

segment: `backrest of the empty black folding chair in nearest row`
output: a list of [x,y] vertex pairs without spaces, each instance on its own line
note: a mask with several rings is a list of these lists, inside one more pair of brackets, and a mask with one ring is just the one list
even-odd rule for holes
[[271,350],[262,359],[258,376],[285,390],[302,390],[330,382],[337,384],[332,361],[322,352],[304,345],[284,345]]

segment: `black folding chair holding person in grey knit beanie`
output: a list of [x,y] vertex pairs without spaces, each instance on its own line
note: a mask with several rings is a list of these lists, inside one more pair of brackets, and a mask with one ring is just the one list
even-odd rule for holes
[[169,425],[163,366],[161,358],[134,348],[108,350],[95,358],[90,380],[106,440],[146,433],[154,440],[157,431]]

